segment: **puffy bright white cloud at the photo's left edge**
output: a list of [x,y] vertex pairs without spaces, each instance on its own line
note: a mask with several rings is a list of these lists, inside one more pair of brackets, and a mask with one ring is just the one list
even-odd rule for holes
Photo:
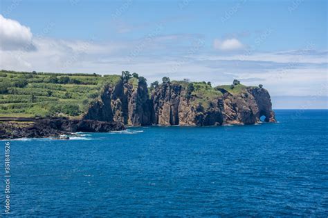
[[0,49],[1,50],[35,50],[30,28],[0,14]]

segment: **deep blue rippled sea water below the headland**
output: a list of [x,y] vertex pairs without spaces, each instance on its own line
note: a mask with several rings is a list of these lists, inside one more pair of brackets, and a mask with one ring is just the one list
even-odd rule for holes
[[[10,215],[327,217],[328,110],[276,116],[10,141]],[[1,181],[4,215],[2,169]]]

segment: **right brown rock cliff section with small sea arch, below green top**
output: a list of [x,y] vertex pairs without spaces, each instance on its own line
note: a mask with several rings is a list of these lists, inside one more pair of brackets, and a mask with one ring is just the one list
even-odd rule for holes
[[275,122],[268,91],[248,88],[231,94],[221,88],[221,97],[208,100],[208,107],[197,105],[197,97],[185,97],[187,90],[178,84],[163,83],[152,92],[153,124],[218,126],[222,124],[253,124],[266,117]]

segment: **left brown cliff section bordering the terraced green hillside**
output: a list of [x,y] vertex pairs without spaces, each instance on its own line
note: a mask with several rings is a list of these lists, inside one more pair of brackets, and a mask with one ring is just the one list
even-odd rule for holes
[[116,121],[128,126],[152,125],[152,103],[147,83],[140,81],[134,86],[120,81],[113,88],[105,88],[83,119]]

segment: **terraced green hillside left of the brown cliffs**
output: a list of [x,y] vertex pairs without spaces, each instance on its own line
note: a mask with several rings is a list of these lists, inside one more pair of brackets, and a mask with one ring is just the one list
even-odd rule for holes
[[78,117],[118,75],[0,71],[0,117]]

